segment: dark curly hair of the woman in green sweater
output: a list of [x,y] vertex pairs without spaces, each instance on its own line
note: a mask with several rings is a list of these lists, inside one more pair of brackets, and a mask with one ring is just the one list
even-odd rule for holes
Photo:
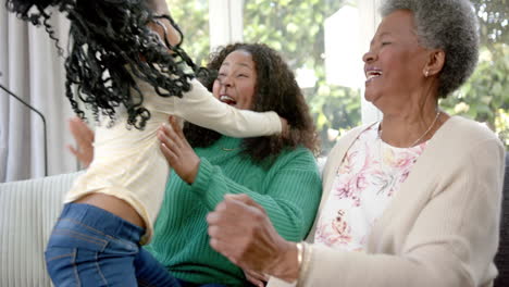
[[[251,54],[257,71],[257,83],[252,99],[256,112],[275,111],[290,125],[289,136],[281,135],[246,138],[243,140],[243,153],[252,161],[274,160],[285,149],[303,146],[314,153],[319,151],[319,141],[308,104],[295,75],[283,58],[263,43],[234,43],[218,48],[209,58],[208,77],[199,77],[203,86],[212,90],[216,77],[212,71],[219,71],[224,59],[233,51],[243,50]],[[186,123],[184,134],[193,147],[208,147],[215,142],[221,134]]]

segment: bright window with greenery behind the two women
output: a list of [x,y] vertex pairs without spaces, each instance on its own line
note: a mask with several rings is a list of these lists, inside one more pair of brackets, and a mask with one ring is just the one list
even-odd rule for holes
[[[305,91],[323,154],[337,135],[381,118],[363,100],[361,60],[381,20],[381,0],[167,1],[187,36],[184,48],[198,63],[207,62],[210,47],[235,41],[264,42],[280,51]],[[481,24],[480,64],[440,107],[485,123],[508,148],[509,9],[504,1],[472,2]]]

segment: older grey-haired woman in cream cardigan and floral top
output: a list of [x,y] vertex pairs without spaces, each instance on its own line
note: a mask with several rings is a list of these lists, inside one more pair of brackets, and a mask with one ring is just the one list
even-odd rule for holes
[[210,245],[300,286],[489,286],[504,148],[484,126],[438,108],[476,64],[473,9],[467,0],[387,0],[381,11],[363,61],[365,98],[384,117],[349,132],[328,155],[313,244],[284,240],[239,195],[208,215]]

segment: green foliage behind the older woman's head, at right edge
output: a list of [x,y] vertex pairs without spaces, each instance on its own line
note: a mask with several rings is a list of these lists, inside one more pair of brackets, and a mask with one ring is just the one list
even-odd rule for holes
[[480,62],[469,82],[440,102],[450,114],[486,123],[509,149],[509,1],[475,0]]

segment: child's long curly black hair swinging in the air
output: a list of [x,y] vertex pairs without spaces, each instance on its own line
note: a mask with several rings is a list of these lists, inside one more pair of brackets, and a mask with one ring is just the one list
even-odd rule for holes
[[85,113],[77,98],[96,121],[102,114],[113,123],[116,108],[123,105],[128,126],[142,129],[150,112],[142,105],[144,95],[134,77],[152,85],[161,97],[182,97],[191,88],[195,72],[201,72],[179,47],[182,40],[175,46],[165,39],[163,43],[147,26],[165,17],[182,37],[173,20],[154,15],[145,0],[7,0],[5,5],[20,18],[44,25],[57,46],[48,11],[66,14],[72,47],[65,59],[65,96],[82,118]]

